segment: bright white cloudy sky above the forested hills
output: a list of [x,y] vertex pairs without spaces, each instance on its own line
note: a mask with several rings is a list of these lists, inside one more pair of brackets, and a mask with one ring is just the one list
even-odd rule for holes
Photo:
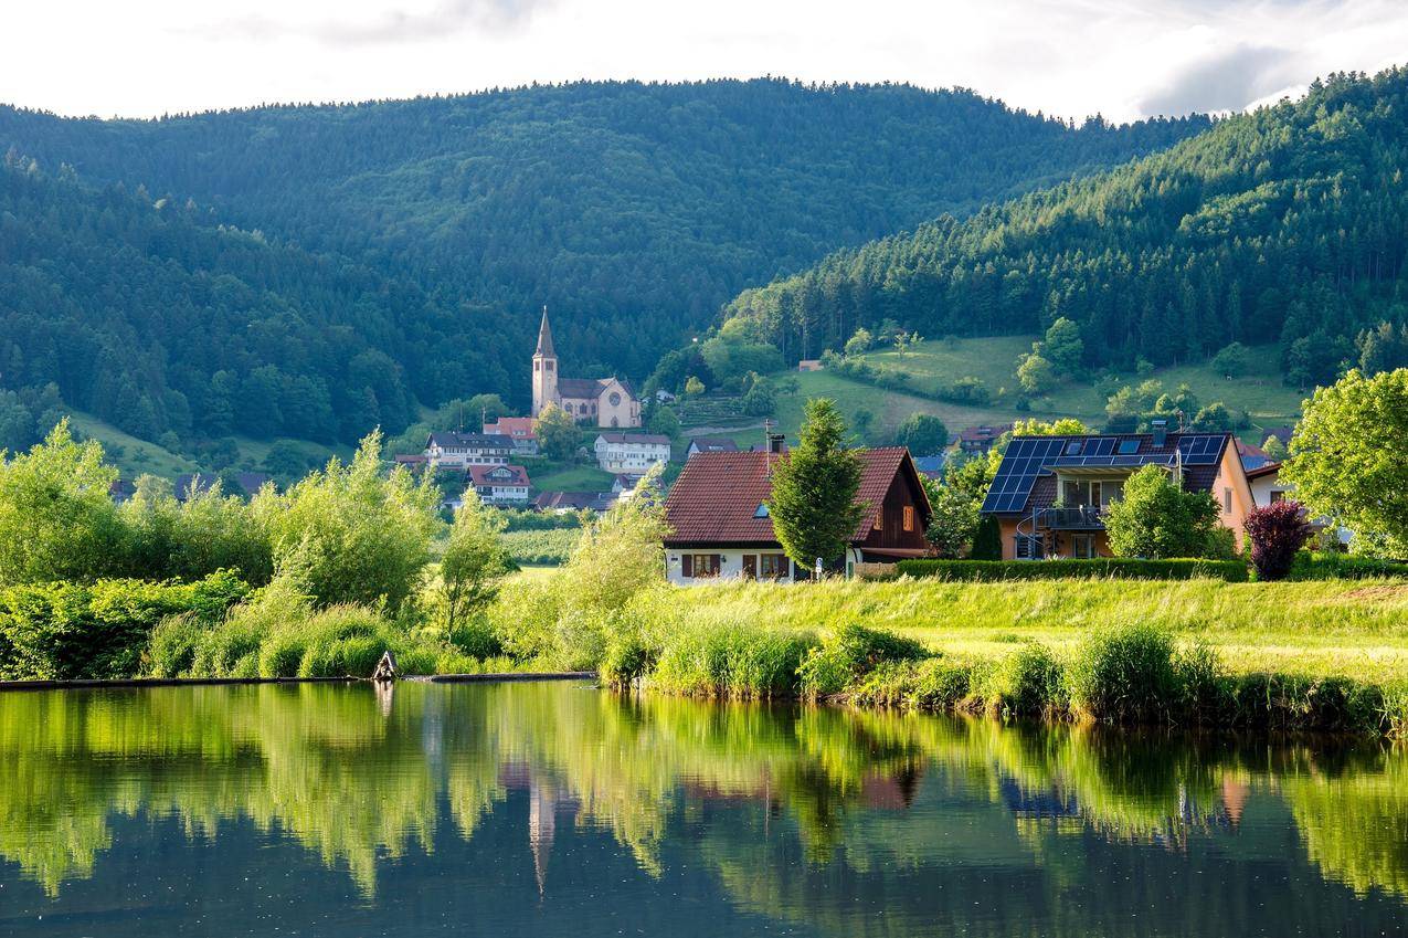
[[964,86],[1111,120],[1408,62],[1408,0],[39,0],[0,101],[152,115],[579,77]]

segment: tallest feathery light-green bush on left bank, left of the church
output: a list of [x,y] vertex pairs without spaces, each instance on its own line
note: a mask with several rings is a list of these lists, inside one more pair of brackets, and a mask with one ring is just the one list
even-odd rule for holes
[[253,501],[269,531],[275,569],[294,576],[317,606],[363,604],[398,613],[414,596],[442,524],[429,475],[382,472],[382,435],[362,441],[351,465],[338,459],[286,493]]

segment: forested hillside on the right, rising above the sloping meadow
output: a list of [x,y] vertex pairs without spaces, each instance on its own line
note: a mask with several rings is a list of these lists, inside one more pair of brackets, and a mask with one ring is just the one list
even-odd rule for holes
[[1080,325],[1087,365],[1281,341],[1332,379],[1360,330],[1408,318],[1408,70],[1333,76],[1171,149],[749,290],[731,317],[790,358],[886,318],[945,334]]

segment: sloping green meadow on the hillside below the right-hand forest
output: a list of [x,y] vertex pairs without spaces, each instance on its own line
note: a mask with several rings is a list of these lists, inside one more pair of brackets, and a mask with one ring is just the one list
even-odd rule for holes
[[[893,349],[865,356],[872,365],[912,375],[914,387],[921,394],[934,393],[959,377],[977,377],[993,394],[993,401],[981,407],[891,392],[821,370],[779,376],[796,377],[797,393],[779,397],[777,418],[783,432],[796,437],[801,425],[803,404],[811,397],[831,397],[838,401],[852,427],[856,423],[856,411],[866,410],[873,415],[866,442],[886,441],[912,413],[935,414],[950,431],[1026,417],[1039,420],[1079,417],[1087,425],[1102,425],[1105,400],[1090,382],[1066,382],[1050,394],[1035,399],[1029,411],[1017,410],[1017,356],[1031,351],[1035,338],[1005,335],[931,341],[921,342],[903,356]],[[1252,349],[1250,358],[1252,368],[1242,377],[1229,379],[1218,375],[1207,363],[1156,369],[1153,377],[1163,382],[1164,389],[1170,392],[1187,383],[1201,403],[1221,400],[1233,414],[1246,410],[1252,415],[1253,428],[1240,435],[1262,442],[1266,437],[1264,428],[1297,421],[1302,394],[1281,383],[1276,366],[1278,355],[1274,348]],[[1132,375],[1126,379],[1131,383],[1139,380]],[[1000,394],[1002,390],[1007,393]]]

